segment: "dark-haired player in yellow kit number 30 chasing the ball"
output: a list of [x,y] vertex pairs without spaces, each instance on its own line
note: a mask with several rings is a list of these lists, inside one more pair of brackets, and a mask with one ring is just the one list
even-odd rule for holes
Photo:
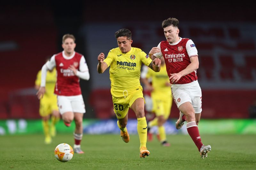
[[[148,55],[132,44],[132,33],[128,29],[121,29],[115,33],[118,48],[111,49],[105,59],[105,55],[98,55],[97,70],[103,73],[109,66],[111,80],[111,94],[114,111],[117,117],[117,125],[120,128],[124,142],[130,140],[126,129],[129,107],[135,112],[138,120],[137,130],[140,138],[140,157],[149,155],[147,143],[147,121],[144,113],[145,100],[140,85],[141,63],[154,71],[160,71],[161,60],[152,61]],[[105,60],[104,60],[105,59]]]

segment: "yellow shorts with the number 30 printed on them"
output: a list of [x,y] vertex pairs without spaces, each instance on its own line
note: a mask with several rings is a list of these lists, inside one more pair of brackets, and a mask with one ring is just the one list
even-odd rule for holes
[[[143,98],[142,89],[135,90],[128,94],[127,97],[115,98],[112,96],[113,104],[114,104],[114,112],[118,119],[124,118],[129,110],[129,107],[132,106],[133,102],[138,99]],[[145,103],[145,100],[144,100]]]

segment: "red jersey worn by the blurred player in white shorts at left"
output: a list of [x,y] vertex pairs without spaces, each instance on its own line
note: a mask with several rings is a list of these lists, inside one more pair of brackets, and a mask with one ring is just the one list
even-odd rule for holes
[[46,63],[49,70],[52,70],[53,67],[56,67],[57,70],[57,82],[54,90],[55,94],[61,96],[76,96],[82,94],[79,78],[72,70],[68,69],[70,65],[74,65],[76,69],[79,70],[79,68],[81,68],[79,66],[82,58],[84,59],[84,56],[76,52],[74,52],[72,56],[67,57],[65,56],[64,51],[62,51],[53,55],[50,62]]

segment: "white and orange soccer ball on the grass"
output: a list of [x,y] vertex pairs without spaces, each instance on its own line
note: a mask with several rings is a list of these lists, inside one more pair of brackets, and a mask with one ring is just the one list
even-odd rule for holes
[[55,148],[54,155],[60,162],[68,162],[72,159],[74,151],[69,144],[59,144]]

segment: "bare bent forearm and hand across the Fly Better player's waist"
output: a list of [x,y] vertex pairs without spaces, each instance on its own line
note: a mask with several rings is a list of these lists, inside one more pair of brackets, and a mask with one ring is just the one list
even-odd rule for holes
[[197,55],[190,57],[190,62],[191,63],[186,67],[186,69],[181,70],[178,73],[171,74],[169,79],[171,80],[172,83],[177,83],[182,76],[186,76],[189,73],[192,73],[193,71],[198,69],[199,61],[198,61],[198,56]]

